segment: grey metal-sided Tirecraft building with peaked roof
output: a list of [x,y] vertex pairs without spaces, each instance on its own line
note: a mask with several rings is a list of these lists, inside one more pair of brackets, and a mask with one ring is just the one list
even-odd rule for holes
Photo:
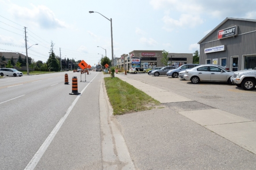
[[256,20],[226,18],[200,44],[200,64],[218,64],[231,71],[256,67]]

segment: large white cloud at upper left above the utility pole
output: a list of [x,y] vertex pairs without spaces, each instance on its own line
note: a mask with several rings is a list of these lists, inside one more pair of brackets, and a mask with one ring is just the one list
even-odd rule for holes
[[26,24],[32,24],[44,29],[67,28],[68,25],[56,18],[53,11],[44,5],[34,6],[32,8],[20,7],[11,4],[8,11],[19,21]]

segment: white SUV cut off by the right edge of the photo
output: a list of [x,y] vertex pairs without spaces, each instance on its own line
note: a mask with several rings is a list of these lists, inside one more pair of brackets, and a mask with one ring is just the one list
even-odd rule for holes
[[244,90],[253,90],[256,86],[256,67],[251,70],[241,70],[234,72],[230,80],[237,87],[242,87]]

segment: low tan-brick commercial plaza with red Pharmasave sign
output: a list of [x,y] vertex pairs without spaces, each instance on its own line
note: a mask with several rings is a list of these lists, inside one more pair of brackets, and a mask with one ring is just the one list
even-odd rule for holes
[[[184,64],[192,64],[193,54],[187,53],[168,53],[168,65],[179,67]],[[120,58],[115,58],[119,69],[126,70],[134,67],[142,67],[144,69],[154,69],[155,67],[164,67],[161,60],[163,58],[162,51],[134,50],[129,54],[123,54]]]

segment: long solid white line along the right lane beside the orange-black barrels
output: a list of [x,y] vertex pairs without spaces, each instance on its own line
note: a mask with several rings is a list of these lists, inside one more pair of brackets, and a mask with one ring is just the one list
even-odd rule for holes
[[[92,82],[95,79],[95,77],[90,82]],[[84,90],[88,87],[89,84],[90,83],[88,83],[87,86],[84,87],[84,89],[81,91],[81,94],[83,94]],[[27,166],[26,166],[26,168],[24,170],[34,170],[35,166],[38,164],[39,160],[41,159],[41,157],[45,153],[46,149],[49,147],[50,143],[53,141],[53,138],[55,137],[57,132],[60,130],[60,127],[62,126],[64,121],[67,119],[69,113],[72,111],[73,107],[75,106],[76,102],[80,98],[81,94],[77,95],[77,97],[75,98],[73,103],[69,106],[69,108],[66,111],[65,115],[60,119],[60,121],[54,127],[54,129],[49,134],[49,136],[45,139],[44,143],[38,149],[38,152],[36,152],[36,154],[33,156],[33,158],[30,160],[30,162],[27,164]]]

